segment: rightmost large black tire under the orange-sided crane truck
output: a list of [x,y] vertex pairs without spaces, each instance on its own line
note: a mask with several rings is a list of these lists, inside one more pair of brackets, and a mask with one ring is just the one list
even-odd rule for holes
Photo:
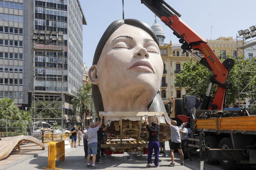
[[[230,137],[224,137],[220,140],[219,149],[233,149],[232,140]],[[235,164],[235,161],[232,160],[220,160],[220,165],[225,170],[238,169],[239,164]]]

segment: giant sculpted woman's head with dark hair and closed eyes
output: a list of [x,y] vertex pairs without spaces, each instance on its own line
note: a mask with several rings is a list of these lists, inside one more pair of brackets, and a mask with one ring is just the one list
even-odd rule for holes
[[148,111],[159,95],[163,68],[156,35],[148,25],[135,19],[112,22],[88,73],[97,113]]

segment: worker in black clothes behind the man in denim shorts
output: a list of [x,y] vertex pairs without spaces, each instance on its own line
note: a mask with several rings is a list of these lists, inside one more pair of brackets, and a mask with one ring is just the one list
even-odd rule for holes
[[[100,123],[100,121],[97,121],[95,123],[96,126],[98,126]],[[99,130],[97,131],[97,137],[98,137],[98,145],[97,145],[97,155],[96,155],[96,164],[102,164],[101,160],[100,160],[100,151],[101,151],[101,140],[103,139],[104,135],[102,133],[102,131],[107,130],[108,126],[111,124],[111,121],[108,121],[107,126],[105,126],[105,128],[100,127]]]

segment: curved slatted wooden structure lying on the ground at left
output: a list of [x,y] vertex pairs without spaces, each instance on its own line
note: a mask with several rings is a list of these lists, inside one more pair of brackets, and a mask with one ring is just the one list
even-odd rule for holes
[[12,150],[16,150],[16,148],[20,150],[20,144],[28,141],[41,146],[42,150],[45,149],[44,144],[35,137],[24,135],[10,137],[0,141],[0,160],[8,156]]

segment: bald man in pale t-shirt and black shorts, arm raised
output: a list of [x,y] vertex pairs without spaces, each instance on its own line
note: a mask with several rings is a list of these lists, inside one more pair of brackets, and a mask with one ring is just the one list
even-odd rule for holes
[[180,152],[180,159],[181,159],[181,164],[182,166],[184,166],[184,163],[183,163],[183,152],[181,150],[181,140],[180,140],[180,128],[177,126],[177,122],[176,121],[173,121],[172,119],[171,120],[171,124],[167,121],[166,117],[165,117],[165,114],[163,114],[164,116],[164,119],[165,119],[165,122],[170,126],[170,129],[171,129],[171,159],[172,159],[172,162],[170,163],[170,165],[168,166],[175,166],[175,163],[174,163],[174,150],[178,149],[178,151]]

